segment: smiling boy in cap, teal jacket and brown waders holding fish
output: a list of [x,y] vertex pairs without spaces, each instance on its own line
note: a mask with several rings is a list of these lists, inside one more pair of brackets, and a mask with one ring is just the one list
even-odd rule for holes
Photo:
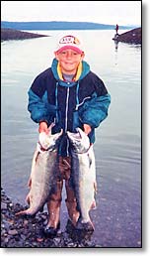
[[66,188],[66,206],[74,226],[79,218],[75,192],[69,186],[71,172],[70,144],[66,132],[80,127],[95,142],[95,128],[107,117],[111,96],[104,82],[84,62],[85,53],[79,39],[64,36],[54,53],[55,58],[39,73],[29,90],[28,110],[38,123],[38,132],[47,133],[51,122],[52,133],[63,129],[59,144],[57,188],[47,202],[46,235],[55,235],[60,226],[59,214],[63,180]]

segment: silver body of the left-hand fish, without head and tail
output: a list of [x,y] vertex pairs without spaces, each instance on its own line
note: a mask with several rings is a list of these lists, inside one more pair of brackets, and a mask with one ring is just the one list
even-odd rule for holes
[[57,166],[57,152],[45,151],[38,154],[35,173],[32,176],[32,189],[30,192],[30,214],[35,214],[42,207],[53,188],[55,169]]

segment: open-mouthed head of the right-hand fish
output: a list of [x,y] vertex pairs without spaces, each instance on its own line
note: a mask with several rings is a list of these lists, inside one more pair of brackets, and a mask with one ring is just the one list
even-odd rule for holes
[[90,148],[89,137],[79,127],[76,128],[76,131],[76,133],[67,132],[68,138],[77,153],[86,153]]

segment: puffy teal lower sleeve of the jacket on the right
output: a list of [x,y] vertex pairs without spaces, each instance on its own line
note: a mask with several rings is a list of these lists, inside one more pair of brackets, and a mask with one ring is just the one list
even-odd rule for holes
[[93,93],[92,98],[87,100],[79,109],[80,121],[89,124],[92,128],[97,128],[100,123],[108,116],[108,109],[111,103],[109,93],[97,96]]

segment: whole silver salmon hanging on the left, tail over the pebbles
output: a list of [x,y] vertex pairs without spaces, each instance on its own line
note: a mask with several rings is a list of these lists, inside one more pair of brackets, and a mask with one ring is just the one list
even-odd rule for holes
[[32,161],[32,171],[30,176],[31,190],[26,200],[29,208],[16,213],[17,216],[35,216],[43,208],[44,203],[51,190],[55,187],[55,170],[57,169],[58,140],[63,131],[51,134],[53,123],[48,128],[48,134],[39,133],[37,148]]

